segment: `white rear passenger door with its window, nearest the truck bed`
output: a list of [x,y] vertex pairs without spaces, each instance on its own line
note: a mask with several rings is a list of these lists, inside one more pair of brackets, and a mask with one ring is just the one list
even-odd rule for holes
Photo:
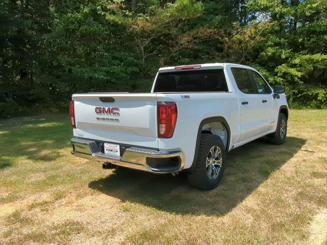
[[262,115],[262,100],[250,79],[247,69],[232,67],[240,103],[239,142],[265,132],[266,119]]

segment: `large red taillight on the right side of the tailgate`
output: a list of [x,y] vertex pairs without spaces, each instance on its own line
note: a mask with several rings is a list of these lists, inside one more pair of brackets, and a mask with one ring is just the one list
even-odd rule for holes
[[158,138],[173,137],[176,120],[177,106],[174,102],[158,102]]

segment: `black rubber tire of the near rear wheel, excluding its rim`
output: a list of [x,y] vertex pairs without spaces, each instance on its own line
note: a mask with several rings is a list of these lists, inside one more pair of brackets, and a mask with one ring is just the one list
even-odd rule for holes
[[[209,151],[214,146],[218,146],[221,152],[221,166],[218,167],[218,165],[216,165],[216,169],[219,169],[219,171],[217,170],[218,176],[214,178],[214,176],[217,174],[217,172],[215,172],[214,176],[211,175],[211,178],[209,178],[209,174],[207,174],[206,159],[208,157]],[[196,165],[192,173],[188,175],[190,185],[201,190],[211,190],[215,188],[219,184],[224,173],[225,157],[225,147],[222,140],[218,136],[214,134],[201,134]],[[220,157],[217,158],[220,159]]]

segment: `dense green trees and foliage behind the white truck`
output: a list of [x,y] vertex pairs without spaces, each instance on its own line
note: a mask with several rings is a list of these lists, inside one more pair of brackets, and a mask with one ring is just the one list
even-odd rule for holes
[[74,92],[151,88],[158,67],[235,62],[326,107],[327,0],[0,2],[0,116],[66,110]]

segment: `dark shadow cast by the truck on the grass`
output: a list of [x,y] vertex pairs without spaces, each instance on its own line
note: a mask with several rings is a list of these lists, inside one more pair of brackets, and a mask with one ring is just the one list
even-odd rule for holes
[[222,181],[210,191],[189,187],[187,179],[180,175],[153,175],[122,168],[90,182],[89,187],[122,202],[163,211],[223,215],[290,160],[305,142],[305,139],[288,137],[285,144],[272,145],[262,138],[240,146],[229,152]]

